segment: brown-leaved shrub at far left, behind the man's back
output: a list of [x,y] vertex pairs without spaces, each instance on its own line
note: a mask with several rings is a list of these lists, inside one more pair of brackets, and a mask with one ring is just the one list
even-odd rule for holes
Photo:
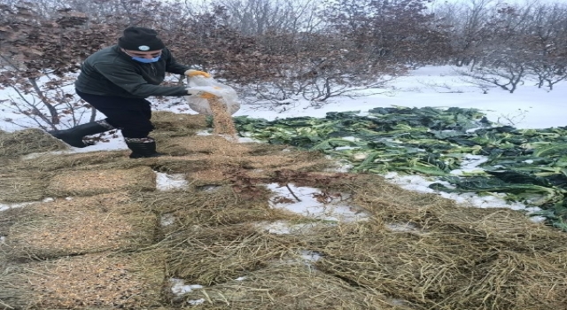
[[[84,29],[86,16],[72,10],[47,12],[43,4],[18,3],[0,12],[4,73],[0,85],[14,94],[2,101],[4,111],[24,115],[34,127],[71,127],[95,117],[95,111],[70,94],[69,73],[89,51],[100,49],[108,25]],[[20,127],[29,121],[6,120]]]

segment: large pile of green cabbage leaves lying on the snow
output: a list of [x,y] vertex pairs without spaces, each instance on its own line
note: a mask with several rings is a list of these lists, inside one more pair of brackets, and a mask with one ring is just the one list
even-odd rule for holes
[[[353,173],[435,177],[431,189],[491,195],[538,206],[547,223],[567,230],[567,127],[499,126],[476,109],[378,107],[325,118],[234,118],[241,136],[345,161]],[[485,162],[452,174],[470,155]],[[442,182],[441,182],[442,181]],[[448,185],[450,184],[450,185]]]

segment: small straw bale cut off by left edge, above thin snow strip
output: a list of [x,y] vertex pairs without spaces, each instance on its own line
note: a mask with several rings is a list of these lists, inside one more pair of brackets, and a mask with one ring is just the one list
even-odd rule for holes
[[21,203],[45,197],[46,180],[42,174],[0,174],[0,202]]

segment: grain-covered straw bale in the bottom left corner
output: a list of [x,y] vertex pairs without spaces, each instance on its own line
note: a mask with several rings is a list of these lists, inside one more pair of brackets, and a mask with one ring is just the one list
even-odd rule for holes
[[17,309],[144,309],[161,306],[163,261],[150,253],[73,256],[12,265],[0,300]]

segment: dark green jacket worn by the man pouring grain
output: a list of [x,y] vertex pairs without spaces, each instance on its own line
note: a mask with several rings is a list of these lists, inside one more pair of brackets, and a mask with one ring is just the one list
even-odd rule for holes
[[184,96],[184,86],[158,86],[166,72],[183,74],[189,66],[175,62],[171,52],[163,49],[159,61],[144,64],[133,60],[114,45],[90,55],[81,66],[74,86],[92,95],[146,98],[150,96]]

